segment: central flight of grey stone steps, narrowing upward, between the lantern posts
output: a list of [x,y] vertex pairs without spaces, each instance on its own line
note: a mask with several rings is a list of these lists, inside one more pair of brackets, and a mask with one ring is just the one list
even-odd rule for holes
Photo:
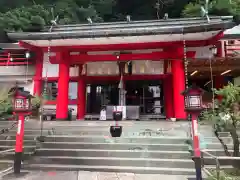
[[[195,174],[185,144],[186,132],[178,127],[179,124],[120,122],[123,126],[120,138],[110,137],[110,124],[55,122],[53,134],[45,138],[24,169]],[[158,129],[158,125],[166,127]]]

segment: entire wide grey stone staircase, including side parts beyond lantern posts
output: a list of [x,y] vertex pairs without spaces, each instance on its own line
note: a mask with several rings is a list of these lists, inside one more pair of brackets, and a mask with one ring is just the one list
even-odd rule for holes
[[[0,129],[12,122],[0,122]],[[44,122],[44,143],[37,143],[39,123],[26,123],[24,138],[25,170],[86,170],[145,174],[194,176],[194,163],[186,140],[187,122],[127,121],[120,122],[123,134],[112,138],[113,122]],[[200,130],[207,151],[225,156],[211,128]],[[16,127],[0,136],[0,151],[14,149]],[[223,134],[231,148],[231,138]],[[0,154],[0,171],[12,166],[14,151]],[[221,163],[225,163],[221,162]],[[204,156],[204,164],[214,167],[214,159]],[[225,163],[226,164],[226,163]],[[225,165],[224,164],[224,165]]]

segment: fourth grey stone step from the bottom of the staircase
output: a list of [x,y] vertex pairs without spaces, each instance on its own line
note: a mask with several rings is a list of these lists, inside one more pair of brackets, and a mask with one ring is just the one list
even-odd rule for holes
[[187,151],[186,144],[141,144],[141,143],[86,143],[86,142],[44,142],[44,148],[106,149],[106,150],[172,150]]

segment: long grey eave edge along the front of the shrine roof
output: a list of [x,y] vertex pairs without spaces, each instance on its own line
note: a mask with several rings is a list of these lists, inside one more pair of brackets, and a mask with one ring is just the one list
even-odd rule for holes
[[101,29],[101,30],[78,30],[59,32],[16,32],[8,33],[12,40],[53,40],[53,39],[74,39],[74,38],[95,38],[95,37],[117,37],[117,36],[141,36],[160,34],[187,34],[206,31],[220,31],[232,28],[233,21],[204,23],[198,25],[180,26],[151,26],[122,29]]

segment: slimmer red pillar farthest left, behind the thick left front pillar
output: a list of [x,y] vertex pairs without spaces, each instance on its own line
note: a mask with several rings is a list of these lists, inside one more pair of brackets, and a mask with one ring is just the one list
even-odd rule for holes
[[41,50],[36,52],[36,66],[35,76],[33,78],[34,87],[33,94],[40,96],[42,93],[42,71],[43,71],[43,52]]

